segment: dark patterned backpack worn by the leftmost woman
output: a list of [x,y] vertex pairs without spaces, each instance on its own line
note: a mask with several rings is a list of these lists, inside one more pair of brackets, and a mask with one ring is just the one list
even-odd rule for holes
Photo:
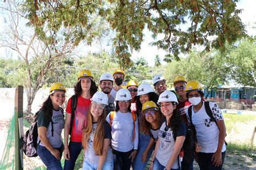
[[[63,114],[63,109],[59,107],[59,109],[62,111]],[[24,138],[23,138],[23,152],[25,153],[25,155],[27,155],[28,157],[37,157],[37,145],[39,145],[41,143],[41,140],[39,140],[39,142],[37,143],[37,138],[38,138],[38,131],[37,131],[37,118],[38,118],[38,114],[41,111],[38,110],[36,112],[36,118],[35,118],[35,122],[30,126],[29,130],[26,131]],[[64,114],[63,114],[64,117]],[[53,137],[53,122],[52,119],[50,119],[51,122],[51,135]],[[50,123],[49,122],[49,123]]]

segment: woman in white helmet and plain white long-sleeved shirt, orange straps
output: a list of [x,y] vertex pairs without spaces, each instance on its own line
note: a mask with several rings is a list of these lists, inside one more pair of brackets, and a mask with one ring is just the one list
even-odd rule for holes
[[116,102],[116,111],[106,118],[112,129],[114,169],[130,170],[138,150],[138,119],[131,112],[131,94],[127,89],[117,91]]

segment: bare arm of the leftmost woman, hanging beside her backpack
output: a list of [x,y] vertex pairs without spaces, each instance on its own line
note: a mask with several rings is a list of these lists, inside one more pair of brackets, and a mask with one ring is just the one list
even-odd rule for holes
[[40,138],[41,143],[51,152],[51,154],[53,156],[55,156],[55,158],[60,160],[59,151],[51,146],[51,144],[49,142],[49,139],[46,135],[47,128],[45,126],[40,126],[40,127],[37,128],[37,131],[38,131],[38,137]]

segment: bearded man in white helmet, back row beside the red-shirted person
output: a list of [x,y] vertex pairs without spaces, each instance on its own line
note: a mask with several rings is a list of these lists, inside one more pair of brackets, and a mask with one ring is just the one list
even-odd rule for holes
[[109,100],[107,101],[108,105],[106,105],[105,110],[107,114],[109,112],[114,111],[116,109],[116,104],[114,103],[114,97],[110,94],[110,91],[113,88],[113,77],[110,73],[104,73],[100,76],[99,86],[102,89],[103,93],[107,95]]

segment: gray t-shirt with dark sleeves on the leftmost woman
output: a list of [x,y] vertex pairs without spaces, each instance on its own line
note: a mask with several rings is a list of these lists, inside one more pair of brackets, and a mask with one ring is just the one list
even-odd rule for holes
[[[52,124],[50,122],[50,118],[44,113],[43,110],[39,111],[37,117],[37,127],[45,126],[47,128],[46,136],[52,147],[58,148],[62,146],[62,130],[64,129],[64,117],[62,111],[52,110],[52,122],[53,122],[53,136],[52,136]],[[37,143],[39,142],[39,137],[37,138]],[[39,145],[44,146],[41,142]]]

